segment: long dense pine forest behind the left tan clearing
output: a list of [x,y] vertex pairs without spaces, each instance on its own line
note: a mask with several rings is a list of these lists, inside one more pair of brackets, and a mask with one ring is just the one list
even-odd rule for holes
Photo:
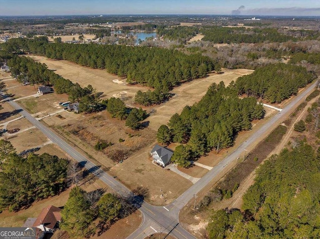
[[91,68],[127,77],[127,81],[150,87],[169,88],[203,77],[214,69],[212,60],[200,54],[186,55],[176,50],[158,47],[130,47],[122,45],[48,43],[44,37],[10,39],[3,48],[8,52],[44,55],[64,59]]

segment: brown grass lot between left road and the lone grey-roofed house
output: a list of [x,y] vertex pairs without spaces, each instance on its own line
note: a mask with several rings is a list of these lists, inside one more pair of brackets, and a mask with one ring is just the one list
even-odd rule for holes
[[[152,204],[167,204],[192,185],[179,175],[151,164],[149,152],[155,143],[153,130],[148,128],[139,131],[129,130],[124,126],[124,121],[110,118],[105,111],[82,116],[62,113],[61,116],[66,119],[50,116],[43,119],[43,122],[54,127],[70,144],[83,150],[83,154],[90,160],[102,165],[110,175],[116,176],[129,189],[147,188],[149,198],[146,200]],[[133,136],[130,137],[129,134]],[[119,138],[124,139],[124,142],[119,143]],[[93,146],[98,139],[112,142],[113,145],[103,151],[96,151]],[[127,152],[129,158],[123,163],[116,164],[108,157],[108,154],[115,150]],[[159,178],[166,180],[159,185]],[[163,198],[159,197],[161,194],[164,195]]]

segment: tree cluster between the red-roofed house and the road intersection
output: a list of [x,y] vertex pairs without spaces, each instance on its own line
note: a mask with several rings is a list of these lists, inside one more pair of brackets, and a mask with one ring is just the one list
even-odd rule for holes
[[[139,191],[137,188],[134,193]],[[60,229],[76,238],[89,238],[95,233],[100,236],[117,220],[127,217],[139,207],[140,200],[135,202],[135,197],[139,196],[103,193],[103,190],[86,192],[78,186],[72,188],[61,211]]]

